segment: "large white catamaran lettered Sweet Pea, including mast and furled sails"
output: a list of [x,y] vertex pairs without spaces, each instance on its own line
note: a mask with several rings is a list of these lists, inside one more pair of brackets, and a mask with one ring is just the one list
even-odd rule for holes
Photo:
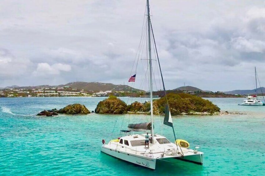
[[[149,70],[149,88],[150,88],[150,107],[153,107],[153,80],[152,80],[152,58],[151,58],[151,31],[153,29],[150,21],[150,9],[149,0],[146,3],[147,10],[147,28],[148,28],[148,70]],[[154,40],[154,35],[153,41]],[[155,42],[154,42],[155,43]],[[156,46],[155,46],[156,50]],[[158,59],[158,57],[157,57]],[[165,86],[163,76],[160,74],[163,82],[164,92]],[[166,93],[166,92],[165,92]],[[113,157],[143,166],[150,169],[156,168],[156,161],[169,161],[177,163],[177,160],[184,160],[195,164],[203,165],[203,152],[198,151],[199,147],[189,149],[189,143],[185,140],[176,140],[175,132],[173,128],[173,121],[169,111],[169,105],[165,108],[164,125],[170,126],[173,129],[174,142],[170,142],[165,136],[154,133],[154,116],[153,108],[150,108],[150,121],[139,124],[129,124],[127,130],[121,130],[124,133],[119,139],[110,140],[105,143],[102,140],[103,145],[101,151],[111,155]],[[145,140],[147,132],[150,132],[150,144],[149,147],[145,146]]]

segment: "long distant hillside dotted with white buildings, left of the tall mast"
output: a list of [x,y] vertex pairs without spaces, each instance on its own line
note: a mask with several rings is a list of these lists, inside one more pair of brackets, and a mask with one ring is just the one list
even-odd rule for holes
[[[7,88],[24,88],[24,89],[39,89],[39,88],[55,88],[55,87],[64,87],[69,86],[71,88],[77,88],[79,90],[84,89],[87,92],[99,92],[99,91],[107,91],[107,90],[113,90],[113,91],[130,91],[130,92],[138,92],[142,91],[140,89],[135,89],[127,85],[115,85],[111,83],[98,83],[98,82],[72,82],[67,84],[61,84],[57,86],[50,86],[50,85],[39,85],[39,86],[23,86],[23,87],[14,87],[9,86]],[[145,91],[143,91],[145,92]]]

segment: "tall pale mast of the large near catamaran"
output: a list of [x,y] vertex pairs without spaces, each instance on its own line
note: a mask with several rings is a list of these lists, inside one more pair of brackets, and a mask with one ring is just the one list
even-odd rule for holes
[[151,107],[151,143],[154,142],[154,115],[153,115],[153,77],[152,77],[152,58],[151,58],[151,36],[150,36],[150,9],[149,0],[147,0],[147,22],[148,22],[148,53],[149,53],[149,86],[150,86],[150,107]]

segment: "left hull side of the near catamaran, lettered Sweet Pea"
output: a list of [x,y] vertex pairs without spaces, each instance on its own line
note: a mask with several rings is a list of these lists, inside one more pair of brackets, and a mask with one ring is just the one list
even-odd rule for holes
[[102,145],[101,146],[101,152],[106,153],[108,155],[114,156],[116,158],[128,161],[133,164],[137,164],[140,166],[144,166],[150,169],[155,169],[155,164],[156,164],[156,159],[155,158],[149,158],[146,156],[139,156],[139,155],[134,155],[132,153],[126,153],[120,150],[113,150],[107,145]]

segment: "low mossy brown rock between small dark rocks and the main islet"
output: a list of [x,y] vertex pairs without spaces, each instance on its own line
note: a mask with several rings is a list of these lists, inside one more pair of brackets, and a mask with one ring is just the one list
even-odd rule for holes
[[70,104],[66,107],[60,109],[58,113],[64,114],[90,114],[90,111],[85,107],[85,105],[81,104]]

